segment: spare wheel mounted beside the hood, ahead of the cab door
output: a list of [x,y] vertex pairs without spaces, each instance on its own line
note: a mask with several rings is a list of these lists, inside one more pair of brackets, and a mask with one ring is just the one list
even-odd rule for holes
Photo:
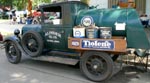
[[43,40],[41,35],[35,31],[26,32],[21,43],[24,51],[31,57],[37,57],[42,53]]

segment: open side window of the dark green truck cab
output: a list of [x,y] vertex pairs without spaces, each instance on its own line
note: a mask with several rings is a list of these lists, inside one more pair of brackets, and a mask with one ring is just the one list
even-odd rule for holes
[[62,24],[62,11],[60,6],[45,7],[44,11],[44,23],[61,25]]

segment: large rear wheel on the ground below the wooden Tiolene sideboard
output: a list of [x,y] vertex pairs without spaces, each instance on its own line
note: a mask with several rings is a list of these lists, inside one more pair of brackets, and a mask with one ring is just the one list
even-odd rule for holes
[[113,61],[107,53],[85,52],[80,60],[80,70],[92,81],[104,81],[112,76]]

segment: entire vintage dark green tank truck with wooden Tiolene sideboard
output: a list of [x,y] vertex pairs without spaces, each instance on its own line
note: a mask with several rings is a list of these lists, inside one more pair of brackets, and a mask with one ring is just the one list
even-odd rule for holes
[[21,36],[15,30],[5,39],[9,62],[19,63],[24,53],[36,60],[79,63],[88,79],[103,81],[112,76],[113,61],[127,48],[150,48],[134,9],[89,9],[71,1],[42,5],[38,11],[40,24],[25,25]]

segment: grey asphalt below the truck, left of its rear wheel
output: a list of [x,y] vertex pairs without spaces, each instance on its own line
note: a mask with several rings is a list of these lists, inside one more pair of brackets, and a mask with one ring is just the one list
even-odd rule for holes
[[91,83],[79,69],[67,65],[41,62],[23,57],[20,64],[11,64],[0,51],[0,83]]

